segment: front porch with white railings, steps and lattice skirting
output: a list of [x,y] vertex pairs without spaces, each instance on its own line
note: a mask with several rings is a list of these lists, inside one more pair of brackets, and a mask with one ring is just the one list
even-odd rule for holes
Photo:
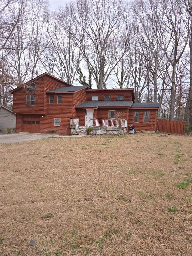
[[71,134],[86,134],[88,127],[93,127],[92,134],[125,134],[127,120],[89,118],[86,120],[85,126],[79,126],[79,118],[70,118]]

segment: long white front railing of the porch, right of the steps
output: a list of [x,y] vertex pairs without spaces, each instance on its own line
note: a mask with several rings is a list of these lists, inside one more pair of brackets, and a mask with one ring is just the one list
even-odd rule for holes
[[127,127],[127,120],[125,119],[101,119],[101,118],[90,118],[87,120],[86,123],[87,127],[119,127],[119,128],[126,128]]

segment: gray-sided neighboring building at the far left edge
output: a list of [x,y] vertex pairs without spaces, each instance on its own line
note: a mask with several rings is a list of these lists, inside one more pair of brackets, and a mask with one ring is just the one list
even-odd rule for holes
[[0,133],[7,133],[7,128],[14,129],[16,126],[16,115],[4,106],[0,106]]

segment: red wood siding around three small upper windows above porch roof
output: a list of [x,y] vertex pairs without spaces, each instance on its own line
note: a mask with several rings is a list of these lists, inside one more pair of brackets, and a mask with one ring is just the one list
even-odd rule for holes
[[103,91],[103,92],[97,92],[97,91],[87,91],[87,100],[90,101],[92,100],[92,96],[98,96],[98,100],[105,100],[104,96],[105,95],[110,95],[111,96],[111,100],[117,100],[117,95],[123,95],[124,96],[124,100],[132,100],[132,95],[131,95],[131,91],[128,92],[124,92],[124,91]]

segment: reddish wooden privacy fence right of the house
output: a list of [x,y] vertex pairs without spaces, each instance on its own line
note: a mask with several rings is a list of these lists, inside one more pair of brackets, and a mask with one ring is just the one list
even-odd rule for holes
[[186,122],[183,121],[171,121],[167,119],[157,120],[157,130],[159,132],[184,134],[185,125]]

